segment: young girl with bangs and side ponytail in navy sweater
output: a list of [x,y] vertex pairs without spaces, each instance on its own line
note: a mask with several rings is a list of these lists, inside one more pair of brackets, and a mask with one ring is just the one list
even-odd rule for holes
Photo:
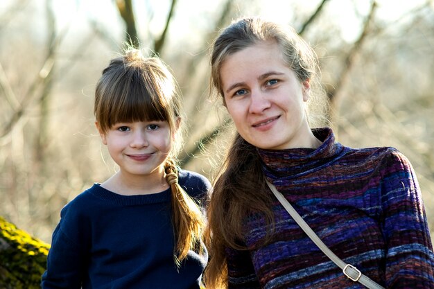
[[200,288],[210,184],[176,166],[180,110],[158,58],[130,50],[104,69],[95,123],[119,171],[62,209],[42,288]]

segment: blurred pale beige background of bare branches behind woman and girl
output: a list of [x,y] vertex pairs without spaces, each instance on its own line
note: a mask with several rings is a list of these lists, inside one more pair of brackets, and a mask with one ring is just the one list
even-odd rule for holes
[[248,15],[315,47],[338,141],[410,159],[433,236],[433,0],[2,0],[0,216],[49,243],[64,204],[114,173],[92,106],[125,41],[171,66],[189,125],[180,161],[214,179],[232,126],[208,97],[209,45]]

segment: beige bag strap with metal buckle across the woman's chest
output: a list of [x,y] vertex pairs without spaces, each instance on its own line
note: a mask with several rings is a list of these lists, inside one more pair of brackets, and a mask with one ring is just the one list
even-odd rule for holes
[[317,245],[321,249],[321,251],[324,254],[326,254],[326,256],[329,257],[331,261],[333,261],[333,263],[335,263],[336,265],[338,265],[340,269],[342,269],[342,272],[345,274],[346,277],[348,277],[354,282],[359,282],[363,284],[366,288],[384,289],[383,286],[380,286],[378,283],[372,281],[369,277],[362,274],[362,272],[360,272],[356,267],[354,267],[351,264],[345,263],[338,256],[336,256],[336,254],[331,252],[329,247],[327,247],[327,245],[325,245],[322,242],[322,240],[315,234],[315,232],[311,229],[311,227],[307,225],[307,223],[303,220],[303,218],[299,215],[299,213],[295,211],[295,209],[288,202],[288,200],[286,200],[286,198],[279,191],[277,191],[276,187],[270,182],[268,182],[267,180],[266,183],[270,187],[272,193],[275,194],[277,200],[279,200],[282,206],[284,206],[284,208],[286,209],[286,211],[288,211],[290,216],[293,217],[295,222],[297,222],[297,224],[303,229],[303,231],[307,234],[307,236],[309,236],[309,238],[313,240],[313,243],[315,243],[315,245]]

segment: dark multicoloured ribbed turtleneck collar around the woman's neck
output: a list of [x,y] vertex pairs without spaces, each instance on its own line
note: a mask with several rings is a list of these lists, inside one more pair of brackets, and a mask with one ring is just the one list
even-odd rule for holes
[[287,150],[263,150],[258,148],[263,162],[263,172],[276,186],[281,181],[312,173],[345,155],[345,146],[335,142],[331,128],[312,130],[322,141],[318,148],[290,148]]

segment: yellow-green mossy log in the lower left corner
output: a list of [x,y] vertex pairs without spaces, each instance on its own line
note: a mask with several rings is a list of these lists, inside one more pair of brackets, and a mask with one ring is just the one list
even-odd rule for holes
[[0,289],[41,288],[49,247],[0,217]]

